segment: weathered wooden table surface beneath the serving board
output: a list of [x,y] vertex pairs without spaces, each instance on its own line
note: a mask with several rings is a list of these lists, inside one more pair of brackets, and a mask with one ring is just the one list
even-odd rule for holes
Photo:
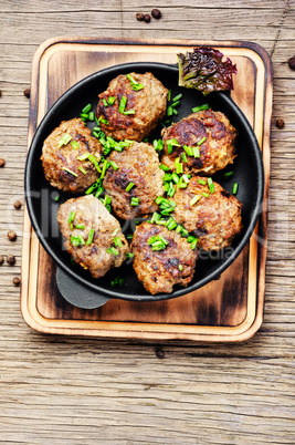
[[[293,0],[2,0],[0,10],[0,443],[295,443]],[[159,8],[162,18],[138,22]],[[39,334],[22,320],[23,172],[31,61],[59,35],[253,41],[274,66],[264,322],[243,344]],[[275,122],[285,121],[278,130]],[[15,230],[17,241],[7,232]]]

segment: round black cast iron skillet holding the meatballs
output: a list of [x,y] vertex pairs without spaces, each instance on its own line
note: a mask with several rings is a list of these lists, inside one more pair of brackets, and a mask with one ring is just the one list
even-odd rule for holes
[[[172,293],[149,294],[138,281],[130,260],[119,269],[112,269],[105,277],[95,280],[89,272],[80,266],[71,262],[70,255],[63,247],[63,239],[56,222],[56,214],[60,204],[70,196],[62,196],[60,203],[54,200],[56,190],[45,180],[40,156],[42,154],[43,141],[60,125],[62,121],[78,117],[82,107],[92,103],[93,110],[97,105],[97,95],[106,90],[109,81],[118,74],[128,72],[151,72],[164,85],[172,90],[172,96],[180,92],[183,94],[179,114],[173,121],[191,114],[191,108],[209,103],[214,111],[223,112],[231,124],[238,130],[238,157],[233,166],[225,169],[233,169],[234,174],[229,180],[223,179],[223,172],[213,176],[230,194],[233,183],[239,183],[238,199],[243,204],[242,219],[243,232],[238,237],[232,248],[223,249],[210,255],[201,253],[197,261],[193,280],[187,288],[175,287]],[[94,125],[94,124],[93,124]],[[91,126],[88,124],[88,126]],[[161,126],[154,132],[150,141],[160,137]],[[241,110],[231,100],[230,94],[214,92],[209,96],[194,90],[187,90],[178,86],[178,68],[162,63],[127,63],[116,65],[94,73],[70,90],[67,90],[48,111],[33,137],[24,174],[25,198],[29,215],[36,232],[36,236],[46,252],[56,261],[57,286],[64,298],[73,304],[82,308],[95,308],[104,304],[109,298],[117,298],[133,301],[156,301],[180,297],[189,293],[217,278],[239,256],[246,245],[259,218],[264,189],[264,173],[261,151],[254,132]],[[139,219],[139,218],[138,218]],[[123,231],[134,231],[134,222],[122,221]],[[120,276],[125,279],[122,287],[112,288],[110,281]]]

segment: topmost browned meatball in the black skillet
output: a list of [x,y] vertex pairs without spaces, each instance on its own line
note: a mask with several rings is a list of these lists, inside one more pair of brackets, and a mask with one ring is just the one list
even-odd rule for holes
[[[107,90],[98,96],[96,117],[101,120],[101,127],[107,136],[140,142],[165,116],[168,90],[151,73],[130,75],[144,89],[135,91],[125,74],[113,79]],[[115,101],[109,97],[115,97]],[[125,112],[135,111],[134,114],[119,112],[122,97],[127,99]]]

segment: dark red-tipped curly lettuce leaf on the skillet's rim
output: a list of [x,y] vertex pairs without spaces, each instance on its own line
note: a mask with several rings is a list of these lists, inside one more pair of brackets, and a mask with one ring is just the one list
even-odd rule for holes
[[210,46],[194,48],[193,52],[177,54],[179,66],[179,85],[196,89],[207,95],[212,91],[233,90],[232,74],[236,65],[223,54]]

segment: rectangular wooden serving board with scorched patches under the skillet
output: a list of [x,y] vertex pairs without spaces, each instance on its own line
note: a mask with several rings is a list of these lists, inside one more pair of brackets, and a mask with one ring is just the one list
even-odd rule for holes
[[145,303],[109,300],[98,309],[83,310],[67,303],[60,294],[56,266],[39,244],[24,209],[21,310],[31,328],[61,334],[198,342],[243,341],[260,328],[265,286],[272,113],[272,65],[261,46],[189,40],[65,38],[46,41],[38,49],[32,63],[28,146],[46,110],[86,75],[125,62],[176,63],[178,52],[191,51],[200,44],[220,49],[236,63],[232,97],[247,116],[262,149],[264,209],[250,242],[219,280],[192,293]]

